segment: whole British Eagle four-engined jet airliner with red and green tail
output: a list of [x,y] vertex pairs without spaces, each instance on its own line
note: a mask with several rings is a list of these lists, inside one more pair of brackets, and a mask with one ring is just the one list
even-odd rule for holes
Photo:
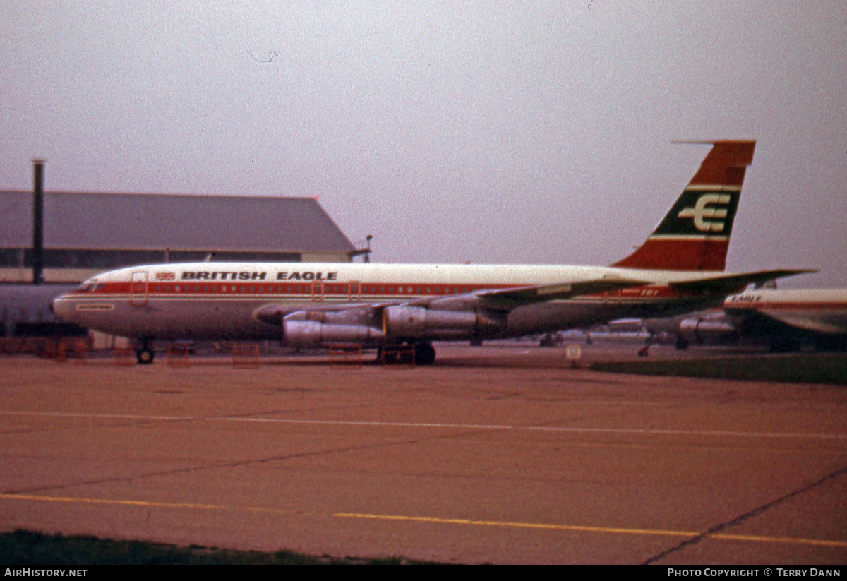
[[723,268],[755,141],[711,151],[635,252],[608,267],[468,264],[173,263],[98,274],[58,297],[58,316],[136,340],[280,340],[301,348],[413,346],[584,327],[722,304],[750,283],[798,274]]

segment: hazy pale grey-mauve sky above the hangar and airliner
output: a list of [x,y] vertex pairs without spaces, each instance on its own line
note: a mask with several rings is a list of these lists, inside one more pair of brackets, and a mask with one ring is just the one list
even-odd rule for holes
[[48,190],[318,196],[379,262],[606,264],[707,151],[670,141],[756,139],[728,269],[847,285],[843,1],[11,1],[0,21],[2,189],[41,156]]

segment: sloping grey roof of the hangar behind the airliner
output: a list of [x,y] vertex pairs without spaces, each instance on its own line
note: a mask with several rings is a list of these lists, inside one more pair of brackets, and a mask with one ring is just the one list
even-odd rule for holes
[[[0,191],[0,247],[32,245],[32,191]],[[310,197],[44,192],[45,248],[354,252]]]

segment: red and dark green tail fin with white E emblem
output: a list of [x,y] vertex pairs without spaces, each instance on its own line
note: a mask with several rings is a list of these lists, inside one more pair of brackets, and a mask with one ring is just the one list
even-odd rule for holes
[[723,270],[729,235],[756,141],[706,141],[711,151],[658,228],[612,266]]

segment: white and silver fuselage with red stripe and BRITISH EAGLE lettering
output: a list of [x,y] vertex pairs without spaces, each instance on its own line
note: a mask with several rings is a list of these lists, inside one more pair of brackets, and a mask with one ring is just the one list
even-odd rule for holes
[[[60,317],[113,335],[153,339],[283,339],[280,324],[257,317],[268,307],[286,313],[351,313],[354,323],[375,309],[438,302],[439,312],[478,309],[476,294],[577,280],[629,278],[643,286],[534,302],[509,310],[499,324],[421,340],[518,336],[621,317],[648,317],[717,306],[722,296],[679,293],[671,281],[706,279],[714,272],[587,266],[357,263],[180,263],[121,268],[89,279],[53,302]],[[357,310],[358,309],[358,310]],[[358,322],[356,321],[357,317]],[[455,325],[454,325],[455,326]],[[372,343],[389,338],[376,338]]]

